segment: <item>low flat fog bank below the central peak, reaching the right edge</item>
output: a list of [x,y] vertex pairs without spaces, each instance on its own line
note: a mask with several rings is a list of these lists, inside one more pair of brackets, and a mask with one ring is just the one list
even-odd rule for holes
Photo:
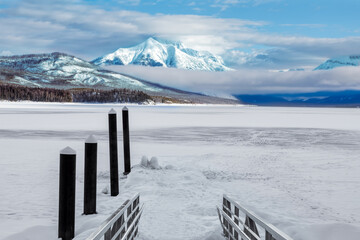
[[360,67],[298,72],[247,69],[215,73],[143,66],[111,66],[107,68],[187,91],[217,94],[360,90],[358,77]]

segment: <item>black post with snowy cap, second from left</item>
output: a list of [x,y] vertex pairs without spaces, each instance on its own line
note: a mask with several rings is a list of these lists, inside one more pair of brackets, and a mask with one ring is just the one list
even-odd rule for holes
[[85,140],[84,214],[96,213],[97,140]]

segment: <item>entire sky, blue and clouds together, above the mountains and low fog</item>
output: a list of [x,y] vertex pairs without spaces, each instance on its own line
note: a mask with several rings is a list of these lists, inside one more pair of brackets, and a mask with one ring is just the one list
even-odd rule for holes
[[91,60],[156,36],[234,68],[312,69],[360,54],[359,11],[357,0],[0,0],[0,54]]

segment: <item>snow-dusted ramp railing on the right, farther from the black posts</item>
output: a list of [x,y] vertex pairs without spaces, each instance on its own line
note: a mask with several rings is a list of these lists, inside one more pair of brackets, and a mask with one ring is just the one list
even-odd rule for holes
[[[217,207],[224,236],[230,240],[292,240],[272,224],[266,223],[253,212],[245,209],[228,196],[223,197],[222,208]],[[240,214],[245,215],[245,221],[240,219]],[[260,226],[265,234],[259,234]]]

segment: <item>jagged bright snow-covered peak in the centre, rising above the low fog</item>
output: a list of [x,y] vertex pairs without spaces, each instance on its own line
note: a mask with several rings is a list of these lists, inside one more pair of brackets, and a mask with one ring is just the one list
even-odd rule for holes
[[119,48],[113,53],[92,61],[96,65],[144,65],[190,70],[228,71],[223,59],[207,51],[186,48],[181,42],[148,38],[130,48]]

